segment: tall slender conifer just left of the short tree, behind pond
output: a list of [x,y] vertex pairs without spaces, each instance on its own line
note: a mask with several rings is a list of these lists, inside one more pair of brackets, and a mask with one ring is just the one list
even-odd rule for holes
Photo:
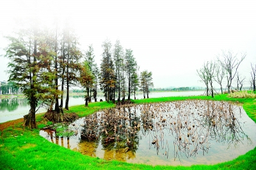
[[[135,84],[132,84],[132,81],[133,82],[136,81],[136,70],[138,68],[137,62],[132,54],[131,49],[125,49],[125,68],[126,68],[126,72],[127,72],[127,82],[128,82],[128,100],[130,100],[131,99],[130,98],[131,86],[135,85]],[[133,75],[133,77],[132,77],[132,75]]]

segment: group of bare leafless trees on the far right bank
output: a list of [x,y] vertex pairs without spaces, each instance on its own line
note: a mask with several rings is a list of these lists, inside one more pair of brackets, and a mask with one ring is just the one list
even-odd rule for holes
[[[232,82],[234,82],[233,79],[235,77],[236,89],[237,91],[239,89],[241,90],[245,77],[241,77],[237,70],[245,57],[246,54],[241,54],[241,58],[238,59],[237,54],[234,54],[230,51],[223,51],[222,55],[219,55],[216,61],[207,61],[206,63],[204,63],[202,68],[196,70],[200,79],[202,80],[202,82],[204,82],[206,86],[206,95],[208,96],[209,93],[211,93],[211,96],[213,97],[213,82],[217,82],[220,85],[221,94],[223,94],[223,81],[225,79],[227,79],[227,85],[225,86],[225,89],[227,88],[227,92],[230,93],[230,91],[232,91]],[[252,81],[250,81],[252,84],[251,86],[253,86],[253,91],[255,91],[255,68],[253,69],[252,66]]]

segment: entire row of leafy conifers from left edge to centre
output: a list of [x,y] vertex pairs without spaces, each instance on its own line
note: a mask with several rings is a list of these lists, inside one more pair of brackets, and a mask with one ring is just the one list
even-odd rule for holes
[[[95,63],[92,45],[85,54],[79,49],[74,31],[66,23],[63,29],[40,27],[34,21],[26,29],[20,29],[15,36],[6,36],[10,44],[6,47],[8,64],[8,81],[12,81],[29,101],[29,114],[24,116],[24,125],[36,128],[35,113],[39,107],[46,107],[56,122],[63,121],[63,106],[68,110],[71,86],[85,89],[85,105],[94,98],[97,102],[97,89],[100,85],[106,101],[117,95],[118,102],[143,87],[149,93],[153,86],[152,73],[139,67],[131,49],[123,50],[117,40],[113,51],[111,42],[102,44],[102,62],[100,69]],[[141,81],[141,82],[140,82]],[[140,82],[140,83],[139,83]],[[63,104],[63,93],[67,96]],[[60,101],[59,101],[60,100]]]

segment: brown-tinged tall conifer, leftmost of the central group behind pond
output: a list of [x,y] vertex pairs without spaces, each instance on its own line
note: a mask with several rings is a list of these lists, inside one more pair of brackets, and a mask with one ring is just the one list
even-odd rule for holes
[[102,62],[100,64],[100,89],[103,90],[106,101],[113,100],[115,89],[115,70],[111,58],[111,42],[106,40],[102,44]]

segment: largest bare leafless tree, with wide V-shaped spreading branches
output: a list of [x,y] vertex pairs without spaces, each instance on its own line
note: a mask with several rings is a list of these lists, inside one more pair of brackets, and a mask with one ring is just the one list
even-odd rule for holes
[[237,59],[237,54],[233,54],[232,52],[228,51],[222,51],[223,60],[220,59],[220,56],[218,56],[218,61],[220,62],[220,65],[227,71],[227,88],[228,93],[230,93],[230,88],[232,84],[232,80],[234,79],[237,68],[240,65],[240,63],[244,60],[246,54],[241,54],[241,59]]

